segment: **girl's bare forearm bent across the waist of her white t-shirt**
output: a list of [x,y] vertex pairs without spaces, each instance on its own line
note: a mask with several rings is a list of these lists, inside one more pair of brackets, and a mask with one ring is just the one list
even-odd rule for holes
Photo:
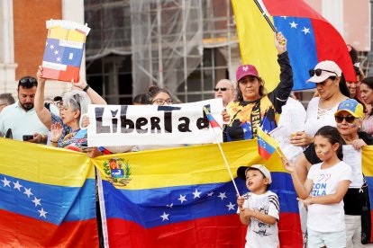
[[350,187],[350,180],[342,180],[338,183],[337,191],[334,194],[325,195],[325,196],[317,196],[317,197],[309,197],[307,199],[300,199],[305,206],[310,204],[323,204],[329,205],[334,203],[340,203],[343,199],[344,195],[346,194],[347,190]]

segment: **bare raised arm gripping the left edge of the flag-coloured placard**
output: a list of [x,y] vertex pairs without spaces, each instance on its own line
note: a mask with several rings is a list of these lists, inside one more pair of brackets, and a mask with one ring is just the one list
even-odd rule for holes
[[36,111],[39,119],[46,128],[50,130],[52,124],[50,111],[44,106],[44,90],[45,90],[45,78],[42,76],[42,67],[39,66],[39,70],[36,73],[36,78],[38,79],[38,86],[36,87],[34,106],[33,108]]

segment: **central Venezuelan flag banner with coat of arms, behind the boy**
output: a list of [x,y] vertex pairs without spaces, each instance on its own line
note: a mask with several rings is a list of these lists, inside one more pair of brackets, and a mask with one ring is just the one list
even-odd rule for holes
[[[296,192],[277,154],[262,160],[256,140],[222,146],[234,176],[242,164],[268,166],[269,189],[280,201],[281,247],[302,247]],[[216,144],[105,155],[93,162],[102,178],[106,245],[244,246],[246,226],[236,214],[236,192]],[[240,194],[248,191],[243,180],[235,182]]]

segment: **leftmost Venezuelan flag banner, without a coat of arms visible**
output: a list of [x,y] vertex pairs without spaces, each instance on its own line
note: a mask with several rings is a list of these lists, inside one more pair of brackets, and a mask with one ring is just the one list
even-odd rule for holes
[[86,155],[0,138],[0,246],[98,247]]

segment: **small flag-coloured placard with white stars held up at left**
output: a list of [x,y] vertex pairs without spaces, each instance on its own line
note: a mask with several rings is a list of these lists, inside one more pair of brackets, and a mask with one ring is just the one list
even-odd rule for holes
[[48,36],[42,58],[43,77],[59,81],[79,80],[79,70],[90,29],[77,22],[47,21]]

